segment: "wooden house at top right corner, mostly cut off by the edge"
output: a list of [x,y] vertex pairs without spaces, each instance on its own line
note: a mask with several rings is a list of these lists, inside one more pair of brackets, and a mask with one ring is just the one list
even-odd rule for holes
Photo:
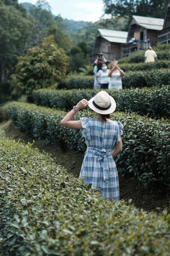
[[159,43],[170,43],[170,1],[167,5],[163,29],[159,31],[158,41]]

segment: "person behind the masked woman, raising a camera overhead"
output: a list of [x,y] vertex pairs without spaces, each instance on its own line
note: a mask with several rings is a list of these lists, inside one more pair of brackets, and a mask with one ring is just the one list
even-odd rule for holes
[[[105,63],[107,65],[107,60],[105,59],[105,57],[103,55],[101,56],[100,54],[98,54],[96,60],[94,61],[94,65],[93,65],[93,72],[95,75],[94,76],[94,89],[101,88],[101,85],[96,80],[96,75],[97,75],[97,72],[102,69],[102,63]],[[99,81],[100,81],[100,79],[99,79]]]

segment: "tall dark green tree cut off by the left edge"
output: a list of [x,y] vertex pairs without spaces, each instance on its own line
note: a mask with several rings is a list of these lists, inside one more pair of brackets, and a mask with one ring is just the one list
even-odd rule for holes
[[[23,53],[29,35],[28,21],[12,5],[0,5],[0,93],[8,82],[11,64]],[[3,88],[3,90],[2,90]]]

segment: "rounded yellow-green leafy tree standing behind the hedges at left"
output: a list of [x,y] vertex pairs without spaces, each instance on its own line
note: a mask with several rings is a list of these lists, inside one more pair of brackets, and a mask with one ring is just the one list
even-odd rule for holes
[[28,49],[20,56],[16,72],[12,75],[15,92],[31,96],[33,90],[54,87],[66,75],[68,56],[54,43],[54,36],[44,38],[43,43]]

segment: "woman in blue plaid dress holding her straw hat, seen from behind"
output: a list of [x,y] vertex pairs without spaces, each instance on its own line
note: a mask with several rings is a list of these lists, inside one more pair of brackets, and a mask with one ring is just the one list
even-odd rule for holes
[[[89,106],[96,112],[96,118],[81,117],[72,120],[80,109]],[[80,128],[85,137],[87,150],[80,171],[80,178],[101,191],[101,196],[119,201],[119,179],[114,158],[122,151],[121,135],[123,125],[112,121],[110,114],[116,109],[116,102],[107,92],[100,91],[87,101],[82,99],[61,121],[69,128]]]

